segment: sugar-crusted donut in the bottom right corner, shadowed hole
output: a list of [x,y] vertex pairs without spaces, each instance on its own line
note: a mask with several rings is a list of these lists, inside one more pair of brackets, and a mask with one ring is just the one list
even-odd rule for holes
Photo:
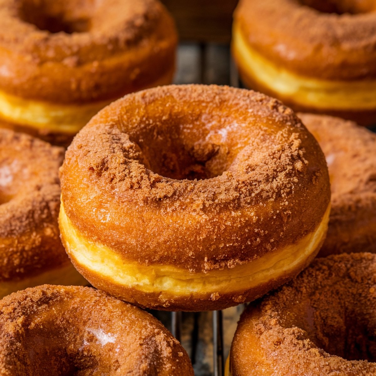
[[376,255],[316,259],[241,315],[231,376],[376,373]]

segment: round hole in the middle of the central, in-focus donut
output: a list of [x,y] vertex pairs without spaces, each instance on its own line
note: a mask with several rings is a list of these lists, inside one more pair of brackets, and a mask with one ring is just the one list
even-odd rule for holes
[[224,124],[213,114],[191,113],[168,119],[161,114],[161,118],[153,118],[152,127],[137,124],[134,134],[127,129],[127,124],[133,121],[132,112],[124,114],[124,131],[142,150],[147,168],[170,179],[202,180],[220,176],[229,169],[246,142],[239,139],[231,119],[226,119]]

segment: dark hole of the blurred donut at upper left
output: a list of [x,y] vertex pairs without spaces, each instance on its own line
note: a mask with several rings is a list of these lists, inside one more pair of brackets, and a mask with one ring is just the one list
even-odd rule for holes
[[90,29],[92,8],[90,1],[24,0],[20,8],[20,18],[50,33],[82,33]]

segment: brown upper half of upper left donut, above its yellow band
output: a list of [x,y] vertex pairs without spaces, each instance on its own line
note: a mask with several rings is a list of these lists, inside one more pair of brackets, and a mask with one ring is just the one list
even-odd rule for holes
[[0,19],[0,89],[47,102],[118,98],[122,72],[176,44],[157,0],[1,0]]

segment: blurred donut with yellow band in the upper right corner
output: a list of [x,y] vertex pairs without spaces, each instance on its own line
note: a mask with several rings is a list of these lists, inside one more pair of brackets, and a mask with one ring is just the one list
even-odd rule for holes
[[232,52],[246,86],[295,111],[376,122],[376,3],[240,0]]

